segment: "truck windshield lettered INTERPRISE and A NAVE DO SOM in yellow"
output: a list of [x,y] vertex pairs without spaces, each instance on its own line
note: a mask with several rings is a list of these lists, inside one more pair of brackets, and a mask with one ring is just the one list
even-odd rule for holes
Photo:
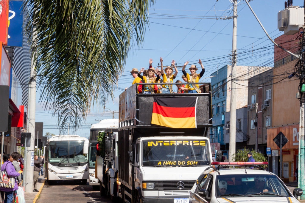
[[205,140],[143,141],[143,166],[210,165],[207,143]]

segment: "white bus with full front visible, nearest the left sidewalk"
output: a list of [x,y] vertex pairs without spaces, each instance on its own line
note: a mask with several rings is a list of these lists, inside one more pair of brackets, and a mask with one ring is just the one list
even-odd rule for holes
[[55,135],[45,147],[45,177],[48,184],[58,180],[87,183],[89,140],[78,135]]

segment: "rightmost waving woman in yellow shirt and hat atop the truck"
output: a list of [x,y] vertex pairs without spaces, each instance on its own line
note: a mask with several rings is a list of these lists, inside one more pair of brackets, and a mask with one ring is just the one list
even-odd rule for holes
[[[198,63],[201,65],[201,72],[199,73],[199,75],[196,73],[196,71],[198,70],[198,68],[196,68],[196,65],[191,65],[191,68],[188,68],[191,72],[191,75],[188,74],[187,72],[185,72],[185,66],[188,65],[188,61],[185,62],[185,64],[182,67],[182,73],[183,75],[186,77],[187,81],[190,83],[193,82],[199,82],[199,79],[203,76],[205,70],[204,67],[202,65],[201,60],[199,59]],[[201,93],[199,85],[188,85],[188,93]]]

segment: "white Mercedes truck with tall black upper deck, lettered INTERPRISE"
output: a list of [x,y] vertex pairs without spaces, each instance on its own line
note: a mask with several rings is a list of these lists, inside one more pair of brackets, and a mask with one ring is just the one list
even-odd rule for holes
[[[107,166],[112,200],[120,197],[127,203],[188,203],[197,177],[212,162],[206,138],[212,126],[210,83],[203,84],[200,94],[138,94],[135,87],[128,89],[120,95],[119,131],[113,134],[113,160]],[[181,128],[152,124],[156,98],[179,103],[194,97],[196,128],[184,128],[184,123]],[[178,108],[174,110],[181,113]],[[99,180],[105,170],[102,163],[98,156]]]

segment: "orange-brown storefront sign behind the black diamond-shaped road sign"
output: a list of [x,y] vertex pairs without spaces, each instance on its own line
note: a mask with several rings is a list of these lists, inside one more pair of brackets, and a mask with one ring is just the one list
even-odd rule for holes
[[288,139],[288,142],[282,149],[299,149],[299,128],[299,125],[290,125],[267,129],[267,147],[270,147],[273,150],[280,149],[273,139],[282,132]]

